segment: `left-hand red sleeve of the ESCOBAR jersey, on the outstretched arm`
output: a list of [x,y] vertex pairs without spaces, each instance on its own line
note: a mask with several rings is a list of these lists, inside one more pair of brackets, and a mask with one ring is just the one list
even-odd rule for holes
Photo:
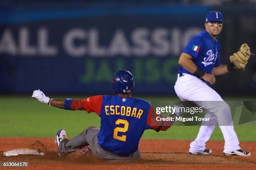
[[88,97],[83,100],[73,100],[71,103],[72,110],[86,110],[88,113],[95,112],[100,115],[102,107],[102,95]]

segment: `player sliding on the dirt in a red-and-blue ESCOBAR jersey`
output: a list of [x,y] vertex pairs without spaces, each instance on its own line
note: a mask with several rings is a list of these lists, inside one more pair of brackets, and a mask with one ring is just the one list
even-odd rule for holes
[[[90,127],[71,140],[65,130],[55,137],[59,155],[67,155],[90,145],[92,154],[110,162],[140,158],[138,143],[146,129],[167,130],[170,122],[156,122],[154,109],[142,99],[131,97],[134,78],[131,72],[120,70],[112,79],[116,96],[98,95],[83,100],[56,100],[35,90],[32,97],[47,105],[66,110],[86,110],[100,116],[100,129]],[[154,121],[154,122],[153,122]],[[87,148],[85,148],[87,149]],[[84,149],[83,149],[84,150]]]

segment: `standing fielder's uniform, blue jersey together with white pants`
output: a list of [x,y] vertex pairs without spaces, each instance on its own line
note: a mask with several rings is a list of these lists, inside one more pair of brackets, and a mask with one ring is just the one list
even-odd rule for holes
[[[219,50],[218,41],[213,40],[210,34],[204,30],[189,41],[183,52],[193,57],[192,61],[199,69],[211,73],[213,67],[220,65]],[[200,107],[203,105],[206,112],[205,117],[210,117],[209,122],[202,122],[197,138],[190,143],[189,152],[197,153],[205,150],[205,143],[209,140],[217,122],[225,140],[224,152],[240,149],[230,107],[205,81],[181,67],[174,90],[180,100],[194,101]]]

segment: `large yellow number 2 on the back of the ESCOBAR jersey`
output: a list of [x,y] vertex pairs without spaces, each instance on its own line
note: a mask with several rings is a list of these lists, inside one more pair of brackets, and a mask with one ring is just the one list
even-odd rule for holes
[[129,127],[129,122],[127,120],[123,120],[123,119],[118,119],[115,121],[115,125],[120,125],[120,124],[123,124],[123,128],[120,128],[120,127],[116,127],[114,129],[114,134],[113,134],[113,138],[116,139],[116,140],[120,140],[120,141],[123,141],[125,142],[126,141],[126,135],[121,135],[121,136],[118,136],[118,132],[127,132],[128,131],[128,127]]

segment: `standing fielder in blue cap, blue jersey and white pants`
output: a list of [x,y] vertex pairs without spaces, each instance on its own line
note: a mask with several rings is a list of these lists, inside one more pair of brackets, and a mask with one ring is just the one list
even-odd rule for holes
[[[241,150],[239,146],[230,107],[209,86],[209,84],[212,85],[216,82],[215,76],[226,74],[235,69],[233,63],[220,65],[220,45],[216,38],[223,28],[223,22],[223,15],[218,11],[212,11],[206,15],[205,30],[195,35],[188,42],[179,58],[179,64],[182,67],[179,70],[174,89],[181,100],[194,101],[197,105],[204,106],[205,117],[210,117],[208,124],[202,122],[197,138],[190,143],[190,154],[209,155],[212,153],[212,150],[205,148],[205,143],[209,140],[218,122],[225,140],[223,154],[250,156],[251,153]],[[236,68],[241,67],[236,65]],[[216,104],[216,102],[206,101],[223,102]],[[225,120],[226,125],[220,123],[222,120]]]

